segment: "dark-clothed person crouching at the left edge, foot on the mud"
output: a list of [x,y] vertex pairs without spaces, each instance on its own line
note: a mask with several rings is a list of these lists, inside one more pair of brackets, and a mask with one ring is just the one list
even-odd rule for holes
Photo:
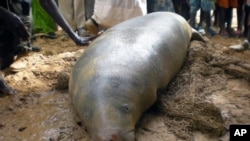
[[[14,57],[23,53],[20,41],[27,41],[29,33],[18,16],[0,6],[0,70],[9,67]],[[0,72],[0,93],[15,94]]]

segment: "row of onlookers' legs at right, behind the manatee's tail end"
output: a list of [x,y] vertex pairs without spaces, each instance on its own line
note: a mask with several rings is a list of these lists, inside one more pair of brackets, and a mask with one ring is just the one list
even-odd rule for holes
[[[249,0],[173,0],[172,2],[176,13],[189,20],[190,25],[200,32],[205,31],[210,36],[219,34],[247,37]],[[237,11],[236,29],[232,28],[233,9]],[[200,10],[199,22],[196,21],[198,10]],[[218,28],[218,31],[215,28]]]

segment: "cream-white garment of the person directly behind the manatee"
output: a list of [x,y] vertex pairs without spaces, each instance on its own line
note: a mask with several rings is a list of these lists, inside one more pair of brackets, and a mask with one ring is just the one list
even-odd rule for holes
[[95,0],[92,18],[109,28],[127,19],[147,14],[146,0]]

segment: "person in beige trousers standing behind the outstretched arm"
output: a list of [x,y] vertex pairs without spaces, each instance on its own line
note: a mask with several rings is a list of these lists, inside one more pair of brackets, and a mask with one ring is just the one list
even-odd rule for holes
[[66,19],[70,27],[79,36],[89,36],[84,27],[85,17],[85,0],[58,0],[59,10]]

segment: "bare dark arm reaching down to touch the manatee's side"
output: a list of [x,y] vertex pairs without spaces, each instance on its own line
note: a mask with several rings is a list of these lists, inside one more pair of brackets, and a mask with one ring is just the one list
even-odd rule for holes
[[48,12],[48,14],[56,21],[56,23],[62,27],[62,29],[69,35],[69,37],[79,46],[89,44],[91,40],[95,39],[97,36],[101,34],[99,33],[98,35],[90,37],[80,37],[71,29],[67,21],[59,12],[54,0],[40,0],[40,4]]

